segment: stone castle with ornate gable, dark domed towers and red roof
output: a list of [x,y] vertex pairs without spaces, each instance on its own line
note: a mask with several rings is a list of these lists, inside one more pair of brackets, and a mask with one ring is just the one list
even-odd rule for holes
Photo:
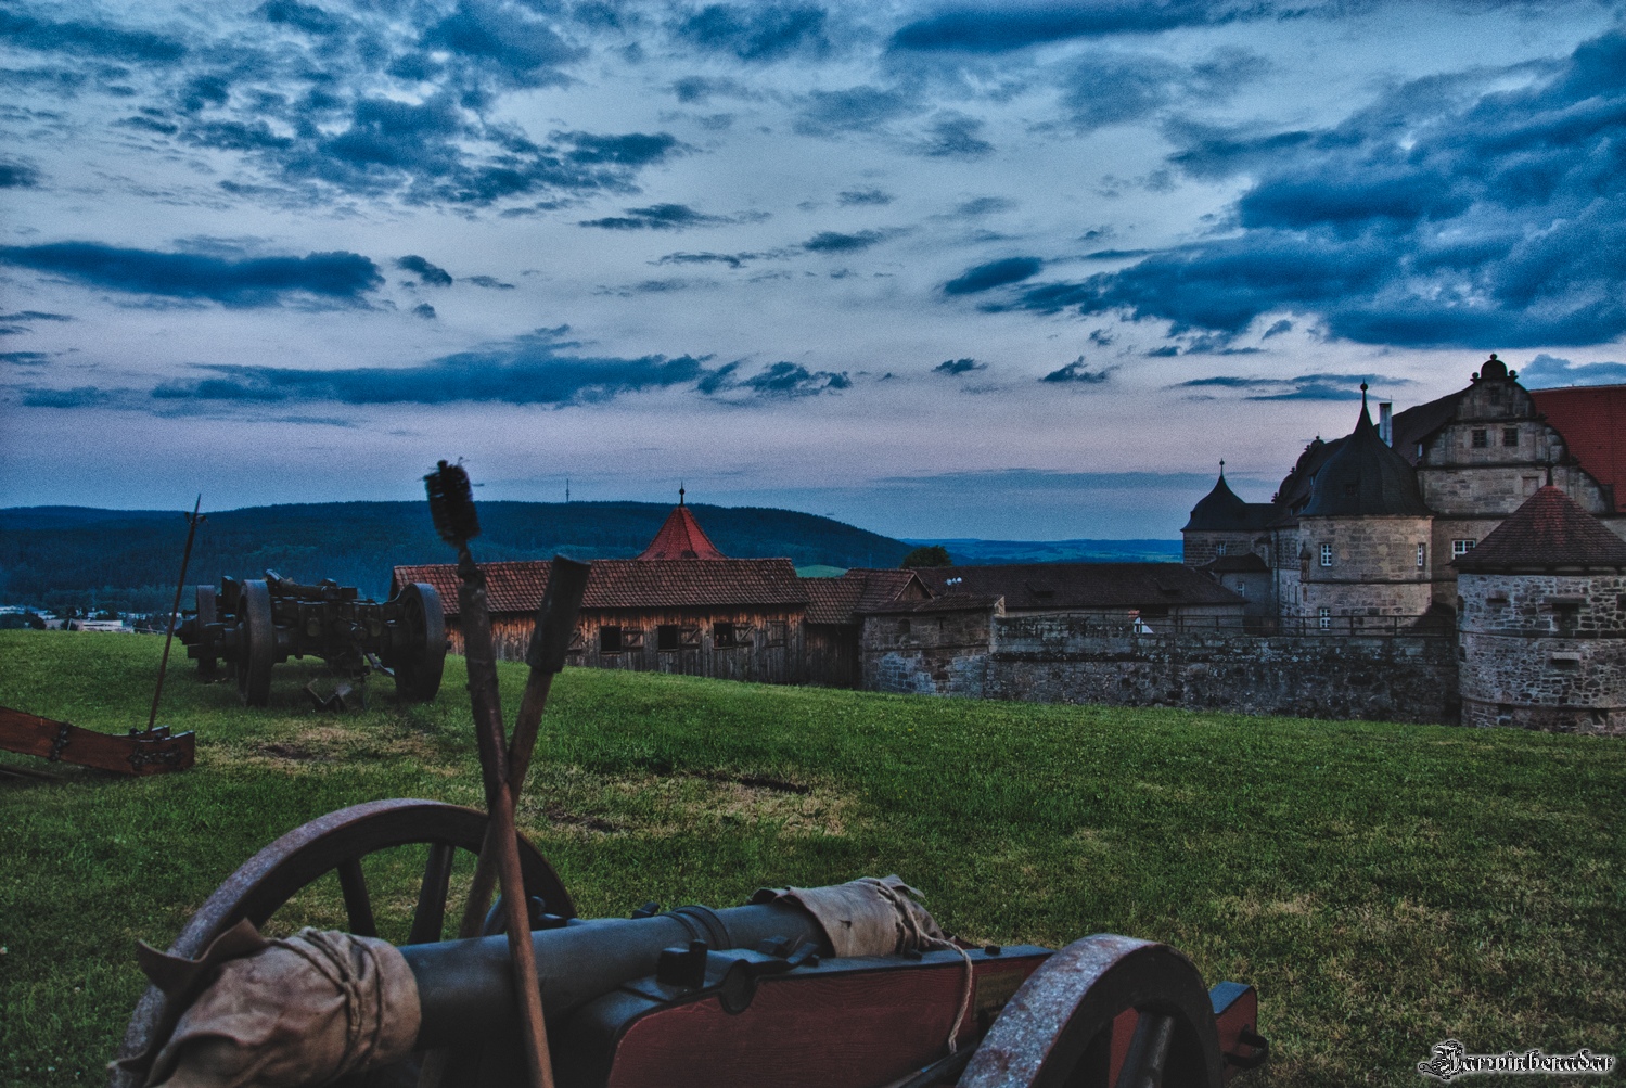
[[[1550,472],[1553,486],[1626,537],[1616,496],[1626,485],[1626,390],[1532,394],[1517,377],[1493,355],[1467,389],[1392,418],[1379,405],[1376,424],[1363,385],[1354,431],[1306,446],[1270,503],[1242,501],[1221,462],[1182,530],[1185,564],[1231,585],[1257,566],[1234,556],[1259,556],[1270,600],[1250,611],[1356,633],[1446,621],[1459,595],[1454,563]],[[1576,431],[1580,454],[1543,403]]]

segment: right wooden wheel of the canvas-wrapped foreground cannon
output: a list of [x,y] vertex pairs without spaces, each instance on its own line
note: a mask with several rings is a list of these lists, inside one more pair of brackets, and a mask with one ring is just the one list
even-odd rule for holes
[[[1114,1020],[1130,1010],[1133,1034],[1125,1047],[1128,1018],[1120,1020],[1114,1047]],[[1098,934],[1023,982],[959,1088],[1220,1088],[1223,1060],[1192,961],[1167,945]]]

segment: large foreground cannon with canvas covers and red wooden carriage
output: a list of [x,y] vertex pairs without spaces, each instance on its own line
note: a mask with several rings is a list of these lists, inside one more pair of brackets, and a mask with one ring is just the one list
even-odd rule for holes
[[[382,800],[324,816],[265,847],[205,903],[166,956],[150,953],[143,966],[167,979],[171,992],[153,987],[143,997],[112,1088],[164,1083],[176,1070],[166,1044],[177,1023],[193,1039],[208,1038],[210,1028],[187,1028],[177,1008],[197,995],[185,981],[189,964],[197,977],[224,977],[213,950],[233,940],[255,945],[246,938],[250,927],[267,927],[278,907],[333,872],[353,940],[369,955],[390,956],[398,979],[410,979],[397,986],[393,1007],[385,1000],[367,1015],[348,1012],[353,1025],[395,1016],[410,1034],[397,1025],[393,1052],[374,1052],[337,1083],[416,1085],[428,1057],[441,1054],[447,1088],[525,1085],[507,938],[496,932],[502,911],[491,911],[485,937],[442,940],[454,855],[478,851],[485,825],[485,813],[472,808]],[[423,877],[405,940],[392,945],[372,937],[379,925],[363,862],[408,844],[421,851]],[[899,922],[909,929],[902,914],[912,912],[920,940],[886,927],[880,945],[854,948],[844,932],[852,901],[842,899],[854,885],[764,890],[746,906],[724,909],[646,904],[631,917],[585,920],[541,854],[524,838],[519,851],[559,1088],[1220,1088],[1268,1052],[1255,990],[1237,982],[1205,987],[1197,968],[1167,945],[1107,934],[1062,950],[967,945],[925,937],[935,927],[915,906],[899,911]],[[888,881],[855,883],[902,888]],[[902,896],[870,898],[883,901],[885,912]],[[298,1005],[285,997],[298,989],[262,973],[272,1005]],[[338,989],[372,987],[350,981]],[[233,1016],[244,1003],[242,992],[224,999]],[[275,1007],[267,1018],[286,1026],[298,1013]],[[185,1046],[171,1051],[184,1055]],[[218,1054],[211,1060],[221,1065]],[[252,1060],[276,1065],[262,1052]],[[158,1077],[146,1080],[154,1068]],[[330,1073],[254,1083],[315,1085]]]

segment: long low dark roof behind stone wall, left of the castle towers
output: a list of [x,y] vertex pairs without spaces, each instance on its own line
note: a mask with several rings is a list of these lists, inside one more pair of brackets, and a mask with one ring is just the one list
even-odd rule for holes
[[1206,574],[1179,563],[937,566],[922,568],[915,574],[941,598],[1003,597],[1008,611],[1244,603]]

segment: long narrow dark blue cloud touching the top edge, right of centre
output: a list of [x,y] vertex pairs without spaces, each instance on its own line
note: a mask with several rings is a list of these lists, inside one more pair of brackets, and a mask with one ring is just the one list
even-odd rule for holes
[[1107,34],[1148,34],[1270,18],[1268,3],[1213,0],[1075,0],[945,7],[899,28],[894,50],[1002,54],[1044,42]]

